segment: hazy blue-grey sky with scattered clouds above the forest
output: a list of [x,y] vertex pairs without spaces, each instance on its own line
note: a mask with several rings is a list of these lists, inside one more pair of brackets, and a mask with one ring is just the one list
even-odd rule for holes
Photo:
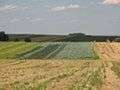
[[0,30],[120,35],[120,0],[0,0]]

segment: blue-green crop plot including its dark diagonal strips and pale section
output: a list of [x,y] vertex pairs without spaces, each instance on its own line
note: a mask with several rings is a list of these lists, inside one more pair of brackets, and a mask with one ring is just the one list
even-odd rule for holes
[[25,56],[27,59],[98,59],[93,45],[88,42],[47,43],[43,48],[26,53]]

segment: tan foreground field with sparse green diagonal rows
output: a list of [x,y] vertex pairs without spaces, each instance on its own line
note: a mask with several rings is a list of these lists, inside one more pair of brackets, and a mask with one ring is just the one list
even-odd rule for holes
[[0,90],[120,90],[120,66],[115,64],[120,62],[3,61]]

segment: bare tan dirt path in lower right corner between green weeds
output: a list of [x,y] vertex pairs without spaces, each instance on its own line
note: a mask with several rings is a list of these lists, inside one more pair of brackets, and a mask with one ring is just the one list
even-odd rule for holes
[[107,66],[105,68],[105,84],[103,85],[102,90],[120,90],[120,80],[117,79],[117,76],[111,70],[112,66],[113,64],[111,62],[107,63]]

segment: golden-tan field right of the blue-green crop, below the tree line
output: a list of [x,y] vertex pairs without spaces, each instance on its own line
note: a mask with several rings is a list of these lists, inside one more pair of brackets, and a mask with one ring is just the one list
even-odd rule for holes
[[99,42],[95,49],[102,60],[120,60],[120,43]]

